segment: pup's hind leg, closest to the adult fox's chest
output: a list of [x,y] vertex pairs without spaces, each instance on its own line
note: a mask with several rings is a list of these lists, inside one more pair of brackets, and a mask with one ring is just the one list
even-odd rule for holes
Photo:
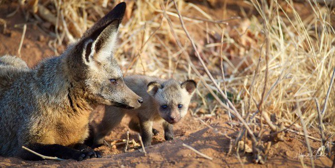
[[104,143],[105,136],[109,135],[114,127],[120,124],[125,113],[118,108],[106,106],[104,117],[96,128],[93,128],[94,138],[92,148],[101,146]]

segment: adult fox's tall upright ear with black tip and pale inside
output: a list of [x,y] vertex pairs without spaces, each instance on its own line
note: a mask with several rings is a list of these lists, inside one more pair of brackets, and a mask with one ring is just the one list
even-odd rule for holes
[[119,3],[83,34],[79,43],[86,64],[93,61],[102,63],[111,59],[125,10],[126,3]]

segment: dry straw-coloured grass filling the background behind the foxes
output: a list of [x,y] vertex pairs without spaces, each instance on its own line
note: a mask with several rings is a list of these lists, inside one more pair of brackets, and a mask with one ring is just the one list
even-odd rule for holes
[[[197,52],[215,82],[228,92],[234,108],[243,118],[249,114],[247,122],[256,121],[263,125],[261,121],[265,119],[265,124],[276,130],[281,123],[285,127],[294,125],[302,129],[299,121],[304,121],[307,128],[317,128],[319,120],[315,99],[323,107],[327,90],[331,88],[323,124],[328,137],[334,134],[335,88],[330,86],[335,68],[334,9],[311,0],[306,2],[312,9],[310,14],[302,17],[292,0],[280,3],[276,0],[269,3],[251,0],[244,3],[257,11],[257,15],[248,15],[241,7],[240,18],[230,18],[225,12],[227,4],[224,0],[217,10],[223,11],[222,14],[215,16],[201,4],[176,1]],[[87,27],[118,2],[31,0],[23,8],[35,19],[55,26],[56,38],[50,46],[57,53],[58,45],[80,37]],[[195,113],[223,116],[221,105],[210,96],[210,92],[218,91],[195,56],[173,1],[126,2],[127,13],[115,53],[125,74],[196,79],[199,89],[194,99],[197,102],[193,109]],[[178,40],[183,48],[178,46]],[[184,50],[191,56],[192,63]],[[297,115],[300,110],[302,120]],[[276,121],[272,119],[273,114]]]

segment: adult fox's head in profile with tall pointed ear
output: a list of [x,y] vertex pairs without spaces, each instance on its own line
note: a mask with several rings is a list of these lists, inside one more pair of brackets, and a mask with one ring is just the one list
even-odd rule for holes
[[70,45],[65,54],[69,57],[67,68],[70,76],[84,88],[88,99],[99,104],[137,108],[142,98],[125,84],[114,58],[125,9],[126,3],[119,3]]

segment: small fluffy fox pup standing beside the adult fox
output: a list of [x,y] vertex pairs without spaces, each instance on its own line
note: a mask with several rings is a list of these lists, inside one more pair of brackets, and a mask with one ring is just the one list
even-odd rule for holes
[[[192,95],[197,87],[193,80],[183,83],[176,80],[162,80],[147,76],[128,76],[125,82],[136,94],[143,98],[143,104],[137,109],[121,109],[106,106],[101,123],[91,123],[94,132],[93,146],[103,143],[104,137],[117,126],[125,114],[131,117],[129,127],[141,133],[144,146],[151,145],[153,121],[163,121],[165,140],[172,140],[173,125],[182,119],[188,110]],[[178,105],[182,108],[178,108]],[[162,109],[162,105],[167,105]]]

